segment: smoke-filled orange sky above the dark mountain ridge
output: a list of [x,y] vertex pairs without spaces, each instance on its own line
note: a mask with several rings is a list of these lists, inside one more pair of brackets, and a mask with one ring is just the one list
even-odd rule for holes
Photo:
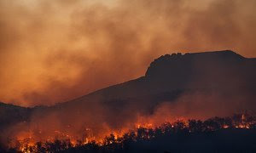
[[161,54],[256,57],[254,0],[0,0],[0,100],[53,105],[143,76]]

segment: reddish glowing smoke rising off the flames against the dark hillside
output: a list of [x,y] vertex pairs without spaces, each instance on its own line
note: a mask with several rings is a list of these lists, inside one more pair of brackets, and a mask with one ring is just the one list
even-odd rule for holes
[[151,113],[143,111],[143,107],[148,105],[147,101],[139,101],[141,104],[132,102],[131,105],[119,101],[121,105],[125,105],[121,109],[118,105],[110,108],[97,100],[49,110],[39,109],[33,112],[29,122],[19,122],[3,129],[0,142],[9,146],[18,146],[16,140],[21,144],[55,139],[70,139],[73,144],[90,140],[99,143],[110,133],[121,136],[137,127],[158,127],[164,122],[177,120],[232,116],[234,113],[244,113],[256,108],[255,103],[248,101],[248,97],[252,98],[252,95],[234,92],[183,94],[175,101],[160,101]]

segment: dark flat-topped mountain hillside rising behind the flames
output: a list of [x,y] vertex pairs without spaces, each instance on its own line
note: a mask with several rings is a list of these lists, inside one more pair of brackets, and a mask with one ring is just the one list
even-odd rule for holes
[[[145,76],[102,88],[78,99],[31,109],[2,104],[0,122],[9,125],[29,121],[31,114],[34,118],[44,118],[54,112],[62,122],[73,122],[74,118],[79,121],[94,114],[99,118],[97,122],[119,127],[122,122],[131,122],[131,117],[137,113],[154,114],[166,102],[175,104],[172,109],[177,116],[191,116],[195,112],[196,116],[224,116],[233,111],[255,110],[255,70],[256,59],[229,50],[166,54],[154,59]],[[186,105],[190,105],[189,110]],[[223,112],[226,108],[230,112]],[[116,121],[122,122],[117,125]]]

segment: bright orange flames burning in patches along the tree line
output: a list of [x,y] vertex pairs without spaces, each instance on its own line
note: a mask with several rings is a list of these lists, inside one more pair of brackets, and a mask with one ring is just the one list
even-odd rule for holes
[[[242,114],[240,117],[237,117],[236,120],[237,121],[233,121],[231,125],[224,123],[220,128],[225,129],[225,128],[230,128],[230,127],[235,127],[235,128],[249,129],[251,127],[251,125],[256,123],[255,120],[248,121],[246,114]],[[177,127],[181,128],[181,129],[188,128],[189,133],[192,132],[192,130],[190,129],[191,127],[189,127],[189,120],[184,120],[183,118],[177,120],[176,122],[172,122],[172,123],[165,122],[164,124],[161,124],[161,125],[155,124],[154,122],[136,122],[134,124],[133,128],[124,127],[119,130],[109,129],[108,131],[106,131],[106,133],[102,133],[102,135],[100,135],[100,136],[94,135],[93,130],[91,128],[85,127],[84,128],[84,139],[78,139],[77,137],[73,136],[71,133],[66,133],[61,130],[55,130],[53,132],[53,135],[49,135],[48,137],[46,137],[46,139],[35,139],[36,134],[39,134],[39,136],[43,136],[43,134],[44,134],[44,131],[39,129],[38,133],[33,133],[32,131],[20,132],[16,137],[16,141],[12,143],[12,146],[15,146],[15,147],[19,146],[18,149],[21,152],[32,152],[32,150],[34,150],[36,148],[37,142],[54,143],[56,139],[63,139],[63,140],[66,139],[66,140],[68,140],[68,142],[70,142],[71,146],[73,146],[73,147],[77,146],[79,144],[89,144],[91,142],[96,142],[96,144],[102,146],[102,145],[104,145],[104,140],[106,138],[108,138],[109,135],[112,136],[112,139],[118,140],[119,138],[122,138],[125,135],[125,133],[129,133],[131,131],[134,131],[135,134],[137,135],[138,134],[137,130],[140,128],[143,128],[143,129],[149,131],[149,130],[155,130],[156,128],[158,128],[160,126],[162,126],[162,128],[163,128],[163,127],[165,127],[165,125],[172,127],[173,129],[175,129]],[[212,127],[207,127],[207,128],[214,131],[214,128],[212,128]],[[163,131],[163,129],[162,129],[162,131]],[[143,139],[151,138],[150,135],[143,135],[142,137],[143,137]],[[113,141],[109,141],[108,143],[112,144]]]

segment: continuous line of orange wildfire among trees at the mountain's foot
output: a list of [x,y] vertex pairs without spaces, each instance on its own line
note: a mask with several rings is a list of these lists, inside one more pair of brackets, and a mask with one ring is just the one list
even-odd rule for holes
[[[165,127],[170,127],[172,130],[178,130],[178,129],[188,129],[189,133],[193,133],[196,130],[198,130],[197,128],[200,127],[201,130],[218,130],[221,128],[247,128],[249,129],[250,127],[252,127],[252,125],[256,124],[256,120],[253,117],[247,116],[245,114],[242,115],[236,115],[234,116],[231,120],[230,119],[226,119],[227,121],[225,121],[225,119],[223,118],[212,118],[212,119],[208,119],[205,122],[200,122],[200,121],[195,121],[195,120],[177,120],[176,122],[166,122],[162,125],[154,125],[154,123],[152,122],[148,122],[148,123],[136,123],[134,125],[133,129],[129,129],[129,128],[124,128],[121,130],[116,130],[116,131],[111,131],[109,130],[107,133],[103,133],[100,137],[96,137],[95,135],[93,135],[92,133],[92,129],[85,127],[84,128],[84,139],[78,139],[77,137],[70,135],[70,133],[65,133],[62,132],[61,130],[55,130],[53,133],[53,136],[49,136],[47,137],[47,139],[40,139],[39,141],[35,139],[35,134],[32,131],[29,132],[22,132],[20,133],[20,135],[16,138],[15,143],[13,142],[11,147],[16,147],[18,148],[18,150],[20,150],[21,152],[33,152],[33,150],[35,150],[35,148],[38,145],[42,145],[42,144],[38,144],[38,142],[41,143],[61,143],[58,142],[57,140],[66,140],[67,144],[70,147],[75,147],[78,145],[83,145],[83,144],[89,144],[89,143],[96,143],[99,146],[102,146],[104,144],[112,144],[114,141],[119,142],[120,138],[125,137],[126,133],[131,133],[131,131],[134,132],[135,136],[140,136],[143,139],[150,139],[151,137],[154,137],[152,135],[148,135],[145,133],[140,133],[140,129],[143,129],[143,131],[146,131],[147,133],[153,133],[154,131],[156,131],[157,129],[159,129],[161,132],[165,131]],[[206,124],[206,125],[204,125]],[[220,127],[218,127],[217,125],[221,125]],[[40,134],[43,134],[42,130],[39,130]],[[144,134],[144,135],[142,135]],[[110,136],[109,136],[110,135]],[[108,140],[108,142],[106,142],[106,139]]]

